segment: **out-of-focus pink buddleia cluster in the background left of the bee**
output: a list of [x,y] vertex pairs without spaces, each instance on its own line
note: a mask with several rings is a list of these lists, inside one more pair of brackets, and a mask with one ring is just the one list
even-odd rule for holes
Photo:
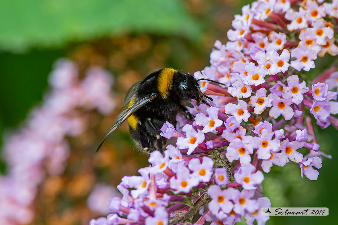
[[34,200],[48,175],[64,172],[70,152],[66,137],[80,135],[89,125],[89,113],[115,108],[111,75],[91,67],[80,80],[77,66],[59,59],[49,76],[50,90],[22,127],[4,139],[6,175],[0,175],[0,224],[29,224]]

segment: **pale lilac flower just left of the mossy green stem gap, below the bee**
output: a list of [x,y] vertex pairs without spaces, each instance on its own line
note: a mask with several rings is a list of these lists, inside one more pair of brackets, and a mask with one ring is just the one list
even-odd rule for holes
[[201,182],[208,182],[213,174],[214,161],[209,157],[203,157],[202,163],[199,159],[191,159],[188,168],[193,171],[192,176],[197,177]]

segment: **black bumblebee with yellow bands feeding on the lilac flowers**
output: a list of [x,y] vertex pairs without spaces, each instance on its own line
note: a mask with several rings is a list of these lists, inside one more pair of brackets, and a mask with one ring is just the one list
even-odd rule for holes
[[166,139],[160,136],[163,124],[166,121],[174,123],[177,113],[190,121],[195,118],[186,108],[185,102],[196,100],[197,103],[211,106],[203,99],[205,96],[212,101],[211,97],[200,91],[200,80],[208,79],[197,80],[193,75],[164,68],[132,85],[124,99],[124,110],[116,117],[97,151],[108,135],[128,120],[130,135],[141,151],[150,153],[159,150],[163,153],[166,142]]

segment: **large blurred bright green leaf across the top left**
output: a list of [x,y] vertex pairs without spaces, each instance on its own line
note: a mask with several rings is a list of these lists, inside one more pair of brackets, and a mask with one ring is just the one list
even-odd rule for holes
[[122,32],[181,35],[191,40],[200,27],[179,0],[2,1],[0,49],[60,46]]

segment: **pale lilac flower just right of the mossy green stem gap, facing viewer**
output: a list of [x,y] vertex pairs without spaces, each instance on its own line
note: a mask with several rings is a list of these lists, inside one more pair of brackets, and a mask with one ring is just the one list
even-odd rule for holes
[[226,148],[226,158],[229,162],[239,159],[242,165],[250,163],[250,154],[254,152],[254,148],[249,144],[249,141],[247,139],[246,142],[243,142],[240,138],[235,138],[230,142]]

